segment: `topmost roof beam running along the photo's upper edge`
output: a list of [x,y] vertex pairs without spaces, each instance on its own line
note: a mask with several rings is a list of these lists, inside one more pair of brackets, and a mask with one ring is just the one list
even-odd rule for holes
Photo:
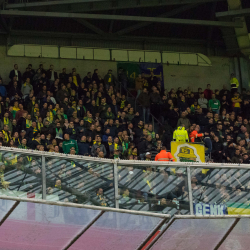
[[[1,1],[1,0],[0,0]],[[7,4],[5,9],[28,9],[59,12],[87,12],[110,9],[209,3],[225,0],[62,0]],[[70,10],[70,11],[69,11]]]

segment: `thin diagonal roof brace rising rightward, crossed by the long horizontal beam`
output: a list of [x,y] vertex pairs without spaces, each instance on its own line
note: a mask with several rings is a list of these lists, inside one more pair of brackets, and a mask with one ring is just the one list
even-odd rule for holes
[[[199,5],[200,4],[184,5],[184,6],[181,6],[181,7],[177,8],[177,9],[175,9],[175,10],[172,10],[172,11],[166,12],[164,14],[161,14],[161,15],[159,15],[157,17],[172,17],[172,16],[180,14],[180,13],[182,13],[184,11],[196,8]],[[152,22],[140,22],[140,23],[137,23],[135,25],[129,26],[127,28],[124,28],[122,30],[119,30],[118,32],[116,32],[116,34],[117,35],[124,35],[124,34],[127,34],[129,32],[132,32],[132,31],[147,27],[147,26],[149,26],[151,24],[152,24]]]

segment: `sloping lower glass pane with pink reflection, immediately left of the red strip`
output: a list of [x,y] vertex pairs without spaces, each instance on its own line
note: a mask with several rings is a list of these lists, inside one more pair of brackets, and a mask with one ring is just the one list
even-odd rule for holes
[[161,221],[157,217],[105,212],[69,249],[138,249]]

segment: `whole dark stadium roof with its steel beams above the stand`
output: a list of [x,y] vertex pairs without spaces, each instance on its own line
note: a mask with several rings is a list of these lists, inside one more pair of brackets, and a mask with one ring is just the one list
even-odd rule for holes
[[[223,30],[243,26],[218,20],[227,0],[54,0],[2,2],[2,33],[144,43],[205,44],[226,48]],[[6,1],[5,1],[6,2]],[[245,6],[246,0],[242,0]],[[233,53],[239,47],[234,45]],[[238,50],[237,50],[238,49]]]

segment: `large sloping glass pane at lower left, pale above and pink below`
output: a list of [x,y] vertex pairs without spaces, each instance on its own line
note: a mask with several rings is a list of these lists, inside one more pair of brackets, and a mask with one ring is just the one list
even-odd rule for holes
[[101,211],[21,202],[0,227],[1,249],[64,249]]

